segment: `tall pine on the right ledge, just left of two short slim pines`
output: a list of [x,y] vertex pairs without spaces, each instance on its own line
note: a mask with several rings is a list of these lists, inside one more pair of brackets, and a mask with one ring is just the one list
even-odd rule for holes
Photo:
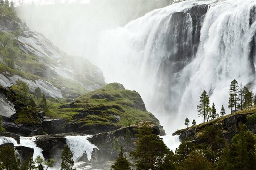
[[207,95],[206,91],[203,91],[200,100],[199,100],[199,105],[197,106],[198,109],[198,115],[204,117],[204,122],[206,121],[207,118],[207,113],[209,112],[209,96]]

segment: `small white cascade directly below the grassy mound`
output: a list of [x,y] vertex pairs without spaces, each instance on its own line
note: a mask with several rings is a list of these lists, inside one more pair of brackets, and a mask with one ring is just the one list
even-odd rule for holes
[[86,136],[66,136],[67,144],[73,153],[73,160],[75,161],[79,156],[82,156],[84,151],[87,153],[88,160],[91,159],[93,148],[96,146],[91,144],[87,139],[90,135]]

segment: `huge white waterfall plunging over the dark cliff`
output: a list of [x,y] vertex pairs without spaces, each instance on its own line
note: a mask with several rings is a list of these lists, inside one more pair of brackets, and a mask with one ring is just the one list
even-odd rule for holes
[[202,121],[203,90],[226,113],[232,79],[254,91],[255,8],[255,0],[189,0],[151,11],[102,32],[95,62],[107,82],[138,91],[171,133],[186,117]]

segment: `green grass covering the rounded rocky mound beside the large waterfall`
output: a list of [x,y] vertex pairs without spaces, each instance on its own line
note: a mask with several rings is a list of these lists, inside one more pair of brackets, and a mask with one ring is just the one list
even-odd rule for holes
[[[114,100],[92,99],[91,96],[94,94],[101,94],[106,98],[112,96]],[[136,108],[136,103],[143,105],[137,92],[125,90],[118,83],[111,83],[77,98],[72,108],[61,109],[61,105],[68,103],[52,102],[52,109],[46,113],[46,116],[62,118],[67,122],[79,122],[83,124],[82,126],[108,125],[119,128],[125,127],[129,119],[131,124],[149,120],[159,125],[159,121],[152,113]],[[78,119],[77,116],[81,111],[87,113],[87,116]],[[119,122],[113,122],[116,119],[114,115],[121,117]]]

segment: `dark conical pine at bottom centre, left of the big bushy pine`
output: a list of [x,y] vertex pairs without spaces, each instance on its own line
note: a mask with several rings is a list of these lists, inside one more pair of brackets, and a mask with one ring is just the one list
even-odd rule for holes
[[122,147],[120,148],[119,157],[115,163],[111,166],[111,170],[131,170],[131,163],[125,158],[122,153]]

